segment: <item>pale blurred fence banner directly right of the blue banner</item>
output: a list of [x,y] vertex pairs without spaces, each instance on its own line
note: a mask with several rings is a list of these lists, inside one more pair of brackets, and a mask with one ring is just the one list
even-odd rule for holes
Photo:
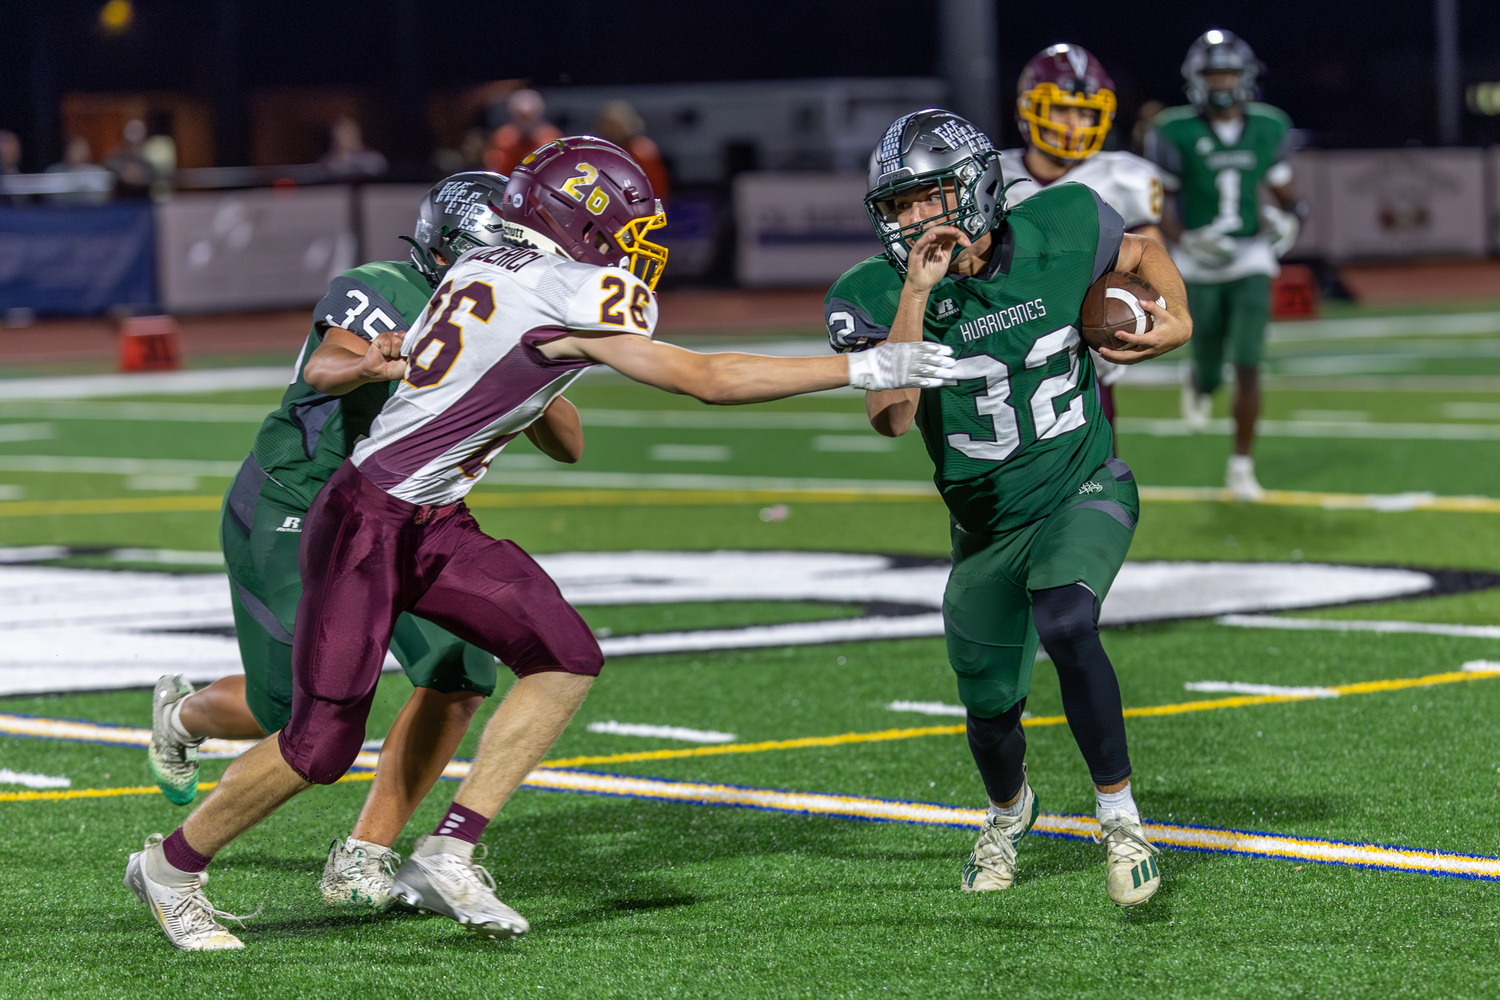
[[171,312],[310,306],[354,267],[350,189],[177,195],[156,207]]

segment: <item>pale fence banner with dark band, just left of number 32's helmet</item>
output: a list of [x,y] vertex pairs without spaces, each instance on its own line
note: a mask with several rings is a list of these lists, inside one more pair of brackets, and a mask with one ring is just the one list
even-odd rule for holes
[[861,174],[741,174],[735,178],[740,283],[830,285],[880,252]]

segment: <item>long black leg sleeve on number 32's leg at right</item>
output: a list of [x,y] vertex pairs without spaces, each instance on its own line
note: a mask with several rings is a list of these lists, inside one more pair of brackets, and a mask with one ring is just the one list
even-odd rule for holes
[[1062,709],[1094,784],[1130,777],[1125,717],[1114,667],[1100,642],[1098,603],[1082,583],[1032,592],[1036,634],[1058,667]]

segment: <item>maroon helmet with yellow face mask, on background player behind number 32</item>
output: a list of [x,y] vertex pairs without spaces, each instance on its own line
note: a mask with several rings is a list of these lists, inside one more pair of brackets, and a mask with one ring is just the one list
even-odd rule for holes
[[[1054,106],[1088,108],[1098,112],[1098,120],[1089,126],[1060,124],[1052,120]],[[1016,84],[1016,120],[1026,141],[1066,160],[1086,160],[1104,148],[1116,106],[1114,81],[1082,45],[1044,48],[1026,63]]]

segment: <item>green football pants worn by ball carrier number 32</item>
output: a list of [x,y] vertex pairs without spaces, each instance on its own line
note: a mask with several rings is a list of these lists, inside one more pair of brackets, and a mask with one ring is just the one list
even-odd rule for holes
[[1032,592],[1083,583],[1098,603],[1125,562],[1140,498],[1136,477],[1110,459],[1047,517],[994,537],[952,525],[952,574],[944,594],[948,663],[958,700],[993,718],[1030,693],[1036,658]]

